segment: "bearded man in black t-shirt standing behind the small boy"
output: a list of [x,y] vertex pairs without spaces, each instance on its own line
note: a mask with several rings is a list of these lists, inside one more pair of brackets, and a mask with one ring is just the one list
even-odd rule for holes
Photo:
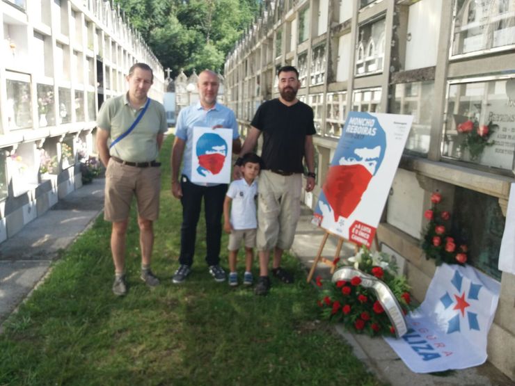
[[[251,122],[241,154],[251,152],[263,134],[264,168],[258,183],[258,236],[260,279],[255,293],[266,295],[270,288],[268,263],[274,250],[272,273],[286,283],[292,275],[280,266],[283,250],[292,246],[301,210],[302,160],[306,159],[306,191],[315,187],[315,163],[312,135],[316,133],[313,111],[296,99],[301,86],[295,67],[278,70],[278,99],[264,102]],[[238,163],[237,163],[238,164]],[[239,168],[235,168],[235,174]]]

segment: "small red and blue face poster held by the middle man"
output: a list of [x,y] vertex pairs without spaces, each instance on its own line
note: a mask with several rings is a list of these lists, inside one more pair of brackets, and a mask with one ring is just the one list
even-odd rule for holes
[[191,182],[228,184],[231,154],[232,129],[193,127]]

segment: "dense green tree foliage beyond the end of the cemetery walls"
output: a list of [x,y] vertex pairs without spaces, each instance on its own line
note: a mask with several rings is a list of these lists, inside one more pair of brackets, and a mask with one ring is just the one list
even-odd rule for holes
[[164,67],[223,70],[260,0],[115,0]]

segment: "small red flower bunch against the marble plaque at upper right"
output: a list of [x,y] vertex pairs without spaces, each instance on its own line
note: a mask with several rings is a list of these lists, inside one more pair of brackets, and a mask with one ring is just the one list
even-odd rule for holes
[[479,124],[479,122],[467,120],[457,125],[458,137],[460,138],[461,152],[468,150],[470,159],[476,161],[483,154],[486,146],[493,145],[489,142],[490,136],[498,128],[497,124]]

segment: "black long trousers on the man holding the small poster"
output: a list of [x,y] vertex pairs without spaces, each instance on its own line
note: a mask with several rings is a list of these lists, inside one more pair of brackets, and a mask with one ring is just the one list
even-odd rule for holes
[[182,226],[180,264],[191,266],[195,255],[197,223],[204,198],[206,224],[206,257],[208,266],[220,263],[220,244],[222,237],[221,218],[223,200],[227,193],[227,184],[216,186],[200,186],[193,184],[187,177],[181,177],[182,188]]

